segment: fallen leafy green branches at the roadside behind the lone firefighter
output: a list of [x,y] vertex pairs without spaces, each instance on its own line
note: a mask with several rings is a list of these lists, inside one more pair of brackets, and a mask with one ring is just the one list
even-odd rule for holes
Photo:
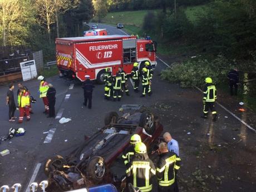
[[179,82],[181,87],[204,85],[206,77],[211,77],[218,84],[227,80],[227,73],[233,66],[222,56],[214,60],[190,59],[183,63],[174,63],[171,68],[161,73],[161,78],[170,82]]

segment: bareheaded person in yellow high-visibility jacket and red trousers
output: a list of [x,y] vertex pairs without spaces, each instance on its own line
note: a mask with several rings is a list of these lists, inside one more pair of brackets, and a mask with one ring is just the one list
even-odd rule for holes
[[27,121],[30,120],[29,114],[30,96],[24,87],[19,91],[18,95],[18,107],[19,107],[19,123],[23,122],[23,117],[26,114]]

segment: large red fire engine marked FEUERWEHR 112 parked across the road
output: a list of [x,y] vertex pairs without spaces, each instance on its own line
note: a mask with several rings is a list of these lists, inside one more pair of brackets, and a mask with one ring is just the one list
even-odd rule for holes
[[118,67],[131,73],[134,62],[140,69],[145,61],[155,67],[156,43],[124,35],[56,38],[56,57],[61,76],[85,81],[85,75],[90,75],[103,83],[106,67],[114,76]]

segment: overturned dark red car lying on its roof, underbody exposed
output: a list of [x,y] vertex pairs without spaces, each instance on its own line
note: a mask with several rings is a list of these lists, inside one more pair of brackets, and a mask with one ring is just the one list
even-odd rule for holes
[[85,142],[70,155],[47,160],[45,174],[50,184],[47,191],[112,183],[110,167],[129,145],[131,135],[139,134],[142,142],[150,146],[162,131],[159,119],[150,112],[137,110],[122,116],[109,112],[105,126],[91,137],[85,137]]

